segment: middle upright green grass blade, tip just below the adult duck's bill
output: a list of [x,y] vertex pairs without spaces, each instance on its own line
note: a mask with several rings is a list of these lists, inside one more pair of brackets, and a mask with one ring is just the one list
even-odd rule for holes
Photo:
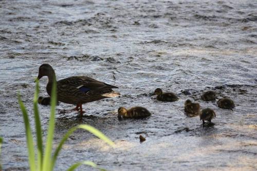
[[34,117],[35,117],[35,129],[36,129],[36,140],[38,145],[38,170],[42,169],[43,162],[43,140],[42,140],[42,129],[41,129],[41,121],[39,116],[38,109],[38,96],[39,96],[39,80],[36,79],[35,93],[34,93]]

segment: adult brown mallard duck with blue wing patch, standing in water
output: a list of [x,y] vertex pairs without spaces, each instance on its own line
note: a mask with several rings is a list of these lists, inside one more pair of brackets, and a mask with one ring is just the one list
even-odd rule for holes
[[[49,64],[43,64],[39,67],[38,80],[42,77],[48,77],[46,91],[51,96],[51,89],[56,74]],[[74,104],[76,110],[80,108],[82,116],[82,104],[119,96],[118,92],[112,90],[118,88],[95,79],[84,76],[69,77],[57,82],[57,100],[63,103]]]

